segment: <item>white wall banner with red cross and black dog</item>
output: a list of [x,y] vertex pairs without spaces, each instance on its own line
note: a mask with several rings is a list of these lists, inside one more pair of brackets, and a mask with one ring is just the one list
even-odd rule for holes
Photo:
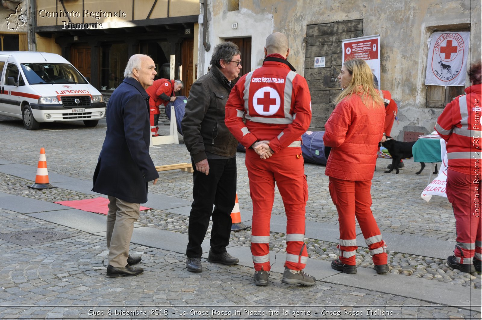
[[432,33],[425,84],[465,86],[469,37],[469,31]]

